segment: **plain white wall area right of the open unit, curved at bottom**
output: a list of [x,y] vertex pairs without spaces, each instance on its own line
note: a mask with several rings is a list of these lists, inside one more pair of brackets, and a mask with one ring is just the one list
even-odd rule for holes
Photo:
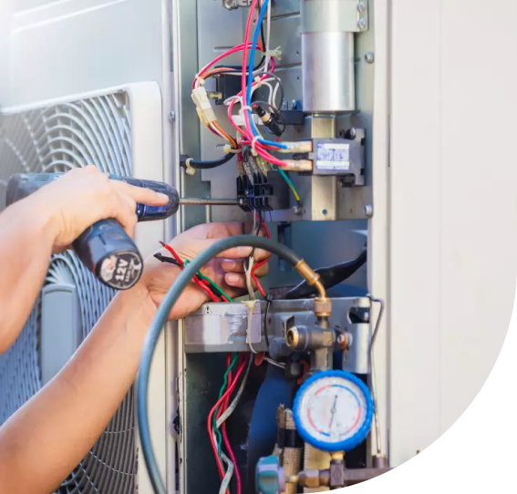
[[389,412],[398,466],[470,407],[511,322],[517,3],[391,5]]

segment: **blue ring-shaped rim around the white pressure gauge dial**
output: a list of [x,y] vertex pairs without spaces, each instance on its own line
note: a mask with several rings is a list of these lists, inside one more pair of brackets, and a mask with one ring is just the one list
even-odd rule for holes
[[[317,381],[321,379],[325,379],[328,377],[338,377],[340,379],[346,379],[356,385],[360,391],[363,393],[365,397],[366,403],[366,415],[365,421],[363,425],[359,428],[356,434],[352,437],[347,437],[343,441],[329,443],[326,441],[321,441],[315,438],[310,431],[308,431],[302,420],[300,407],[302,406],[302,399],[305,395],[307,389],[314,385]],[[370,428],[372,426],[373,416],[375,413],[374,402],[370,393],[370,390],[367,386],[361,381],[357,376],[350,374],[346,371],[340,370],[329,370],[316,374],[315,376],[309,377],[303,386],[300,387],[295,396],[295,406],[293,407],[293,415],[295,417],[295,424],[300,436],[304,439],[305,442],[309,443],[312,447],[320,449],[321,451],[326,451],[328,453],[337,453],[339,451],[351,451],[352,449],[357,448],[368,436]]]

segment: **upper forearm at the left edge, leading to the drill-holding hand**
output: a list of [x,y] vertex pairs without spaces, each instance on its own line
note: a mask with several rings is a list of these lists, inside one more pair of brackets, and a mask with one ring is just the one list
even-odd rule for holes
[[31,198],[0,214],[0,354],[14,343],[45,281],[56,233]]

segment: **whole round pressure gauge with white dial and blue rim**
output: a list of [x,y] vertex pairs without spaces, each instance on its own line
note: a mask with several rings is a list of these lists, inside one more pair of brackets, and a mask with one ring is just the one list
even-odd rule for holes
[[357,448],[368,435],[373,414],[367,386],[344,371],[310,377],[295,397],[295,424],[300,436],[329,453]]

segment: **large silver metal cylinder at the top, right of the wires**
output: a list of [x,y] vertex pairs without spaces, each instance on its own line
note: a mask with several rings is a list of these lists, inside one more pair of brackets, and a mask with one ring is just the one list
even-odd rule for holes
[[302,0],[303,107],[309,113],[356,109],[354,33],[348,0]]

